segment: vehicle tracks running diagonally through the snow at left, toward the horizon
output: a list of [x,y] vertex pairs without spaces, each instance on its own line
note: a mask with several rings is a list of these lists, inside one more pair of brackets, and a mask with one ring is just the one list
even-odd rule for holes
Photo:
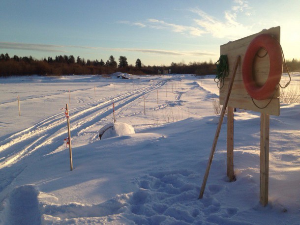
[[[84,106],[80,106],[70,110],[69,114],[72,137],[78,136],[81,130],[89,129],[91,126],[94,126],[95,122],[101,121],[101,119],[104,119],[106,116],[110,115],[112,113],[112,102],[116,103],[116,110],[122,109],[130,102],[133,102],[144,94],[153,91],[166,82],[167,81],[157,82],[150,86],[143,87],[139,90],[126,92],[113,99],[109,99],[111,97],[109,96],[107,98],[101,99],[108,99],[101,103],[98,103],[101,100],[97,100]],[[61,146],[61,140],[65,138],[61,137],[66,134],[65,127],[66,125],[64,114],[60,112],[56,115],[48,117],[47,119],[37,123],[36,125],[28,129],[25,129],[24,131],[10,136],[6,139],[7,142],[0,146],[0,152],[3,152],[5,150],[5,154],[7,152],[12,153],[6,154],[6,157],[0,156],[0,168],[16,163],[25,156],[30,155],[31,152],[36,151],[45,145],[51,145],[47,146],[50,151],[57,149],[59,146]],[[22,150],[19,151],[16,149]]]

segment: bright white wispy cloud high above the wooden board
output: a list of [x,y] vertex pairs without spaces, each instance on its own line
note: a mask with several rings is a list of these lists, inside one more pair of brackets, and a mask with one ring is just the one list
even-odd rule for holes
[[[231,10],[224,12],[224,20],[218,20],[199,8],[190,9],[191,12],[198,14],[201,18],[194,21],[205,31],[216,38],[237,38],[251,34],[251,26],[244,26],[238,22],[238,13],[250,9],[247,1],[235,0]],[[249,13],[245,13],[250,15]]]

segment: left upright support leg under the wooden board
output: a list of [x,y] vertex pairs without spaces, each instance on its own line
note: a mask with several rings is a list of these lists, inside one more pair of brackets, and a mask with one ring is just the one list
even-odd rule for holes
[[234,180],[233,172],[233,137],[234,137],[234,112],[233,107],[227,107],[227,176],[230,181]]

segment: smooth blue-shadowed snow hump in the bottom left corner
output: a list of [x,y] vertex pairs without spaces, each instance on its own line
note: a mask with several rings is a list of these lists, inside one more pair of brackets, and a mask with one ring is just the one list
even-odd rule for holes
[[0,224],[41,224],[38,202],[39,189],[28,184],[15,188],[4,201]]

